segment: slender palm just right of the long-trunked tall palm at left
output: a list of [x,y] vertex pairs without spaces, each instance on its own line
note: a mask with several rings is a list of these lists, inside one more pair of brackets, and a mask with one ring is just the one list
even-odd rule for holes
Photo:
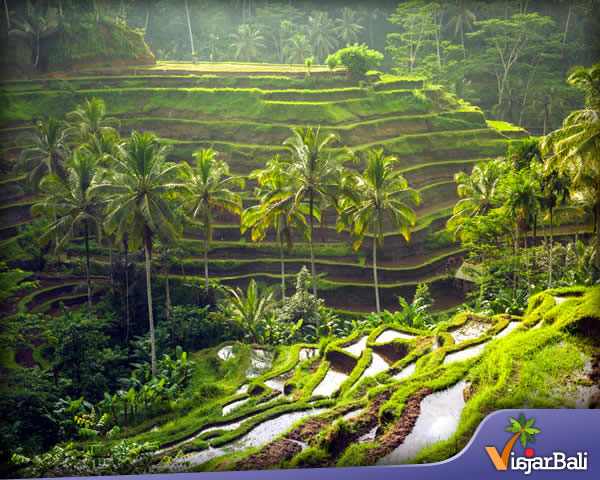
[[229,168],[223,161],[215,158],[215,152],[207,148],[194,152],[196,168],[183,163],[183,175],[189,198],[184,202],[192,219],[199,219],[204,226],[204,280],[208,293],[208,247],[213,234],[213,209],[242,214],[242,199],[230,188],[235,185],[244,187],[244,181],[229,176]]

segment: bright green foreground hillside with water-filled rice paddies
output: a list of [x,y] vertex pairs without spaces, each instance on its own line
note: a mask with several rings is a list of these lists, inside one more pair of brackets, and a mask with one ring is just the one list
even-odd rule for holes
[[128,427],[130,400],[109,396],[96,415],[112,408],[120,432],[75,447],[98,457],[133,442],[152,452],[137,471],[151,472],[441,461],[495,410],[598,407],[599,293],[549,290],[522,317],[462,313],[433,331],[383,323],[320,345],[225,342],[191,357],[193,394],[174,411]]

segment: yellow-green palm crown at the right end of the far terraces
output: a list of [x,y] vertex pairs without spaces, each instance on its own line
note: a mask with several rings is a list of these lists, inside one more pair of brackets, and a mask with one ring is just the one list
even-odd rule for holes
[[505,163],[497,159],[478,163],[471,175],[465,172],[454,175],[454,181],[458,183],[458,196],[462,198],[454,207],[446,226],[454,232],[455,238],[462,237],[462,226],[466,219],[485,215],[491,209],[498,182],[505,171]]

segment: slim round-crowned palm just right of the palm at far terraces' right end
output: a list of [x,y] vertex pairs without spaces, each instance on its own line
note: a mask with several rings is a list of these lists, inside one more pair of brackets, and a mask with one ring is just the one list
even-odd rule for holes
[[529,254],[527,250],[527,231],[535,212],[539,208],[540,191],[537,179],[527,169],[511,172],[503,177],[498,186],[500,197],[504,200],[504,209],[515,219],[516,243],[519,235],[524,233],[525,268],[527,272],[527,290],[531,292],[529,281]]

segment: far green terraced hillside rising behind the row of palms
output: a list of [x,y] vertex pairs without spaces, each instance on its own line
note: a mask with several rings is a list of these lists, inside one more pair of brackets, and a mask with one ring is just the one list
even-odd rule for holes
[[[0,94],[4,164],[17,160],[23,147],[18,138],[34,120],[49,114],[64,117],[92,97],[103,99],[107,114],[121,120],[122,136],[132,130],[152,131],[169,144],[169,158],[175,162],[191,162],[193,151],[212,147],[218,158],[227,161],[230,171],[241,176],[263,168],[277,154],[285,155],[282,142],[290,136],[290,128],[320,127],[323,133],[337,133],[342,144],[362,159],[352,165],[357,169],[364,168],[368,150],[383,148],[386,154],[394,154],[409,186],[420,191],[410,242],[388,228],[378,256],[382,308],[396,310],[397,296],[412,297],[421,282],[430,283],[436,309],[461,303],[462,292],[452,287],[451,274],[463,252],[444,232],[458,198],[453,175],[468,173],[476,162],[504,154],[510,136],[521,136],[523,131],[509,124],[490,127],[479,109],[441,87],[423,86],[421,81],[371,78],[361,88],[343,71],[315,67],[311,77],[304,78],[304,70],[262,64],[159,63],[82,70],[60,79],[7,81]],[[19,263],[12,256],[18,232],[31,221],[29,207],[36,198],[23,182],[23,178],[10,177],[3,181],[0,234],[3,252],[13,264]],[[250,193],[252,187],[247,182],[245,207],[256,201]],[[274,237],[252,243],[248,233],[240,235],[237,225],[239,219],[218,217],[216,241],[209,254],[211,278],[242,286],[250,278],[277,283],[279,256]],[[200,277],[200,228],[188,226],[184,238],[184,275]],[[308,263],[308,249],[296,240],[287,264],[290,286],[301,266]],[[336,233],[335,212],[331,211],[315,240],[319,242],[315,250],[319,287],[326,305],[372,311],[370,239],[354,251],[349,236]],[[74,244],[71,253],[78,252],[81,249]],[[92,253],[96,273],[107,275],[107,250],[96,247]],[[181,271],[174,265],[170,273],[175,276]],[[72,297],[68,290],[55,293],[59,292]]]

